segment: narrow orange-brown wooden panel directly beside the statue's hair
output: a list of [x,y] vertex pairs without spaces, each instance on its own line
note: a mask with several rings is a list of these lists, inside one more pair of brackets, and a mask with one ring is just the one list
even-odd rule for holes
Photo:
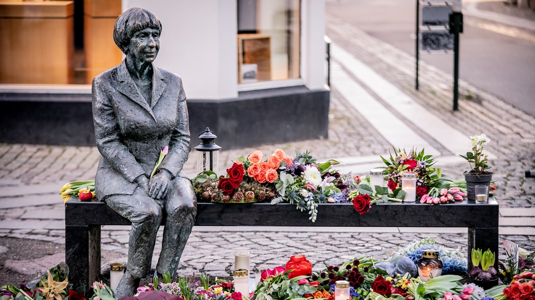
[[121,0],[84,0],[83,43],[86,56],[86,83],[117,66],[123,52],[113,42],[113,24],[121,14]]

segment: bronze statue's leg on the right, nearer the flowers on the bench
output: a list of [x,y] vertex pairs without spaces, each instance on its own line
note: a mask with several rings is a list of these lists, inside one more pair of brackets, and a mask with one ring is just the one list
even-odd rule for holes
[[180,256],[186,247],[197,214],[195,192],[189,179],[177,176],[173,180],[164,207],[167,219],[165,220],[162,252],[160,252],[156,271],[160,274],[169,272],[173,277],[177,272]]

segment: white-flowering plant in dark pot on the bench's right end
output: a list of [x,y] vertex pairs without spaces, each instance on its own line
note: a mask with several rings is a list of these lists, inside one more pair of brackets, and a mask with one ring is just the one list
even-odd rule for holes
[[472,152],[461,155],[468,160],[471,170],[464,172],[464,180],[467,182],[467,196],[469,200],[475,201],[475,186],[490,186],[492,172],[486,171],[491,167],[487,165],[487,155],[483,154],[483,149],[491,141],[485,134],[469,136],[472,142]]

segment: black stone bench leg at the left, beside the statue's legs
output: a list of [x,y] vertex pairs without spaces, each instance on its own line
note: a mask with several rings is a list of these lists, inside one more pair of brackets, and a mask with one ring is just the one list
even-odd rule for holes
[[100,274],[100,226],[65,226],[65,262],[74,288],[89,287]]

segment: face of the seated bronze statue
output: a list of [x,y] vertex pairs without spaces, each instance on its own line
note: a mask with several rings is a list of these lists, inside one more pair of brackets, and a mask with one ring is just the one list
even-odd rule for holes
[[141,63],[152,63],[160,49],[160,35],[154,28],[141,29],[132,36],[128,44],[128,56]]

